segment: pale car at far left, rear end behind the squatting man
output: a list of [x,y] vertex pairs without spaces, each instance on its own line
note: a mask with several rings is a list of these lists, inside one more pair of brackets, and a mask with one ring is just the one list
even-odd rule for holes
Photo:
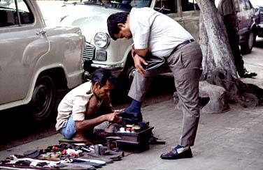
[[36,1],[0,1],[0,110],[28,105],[45,121],[59,89],[83,83],[85,37],[78,27],[47,27]]

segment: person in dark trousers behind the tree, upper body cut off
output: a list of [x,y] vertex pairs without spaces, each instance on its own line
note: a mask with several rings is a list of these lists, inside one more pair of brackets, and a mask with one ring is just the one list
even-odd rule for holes
[[239,49],[239,24],[236,16],[236,8],[234,0],[221,0],[218,3],[218,12],[222,16],[227,29],[227,37],[229,45],[234,56],[234,63],[239,77],[255,77],[257,73],[248,72],[244,67],[244,61]]

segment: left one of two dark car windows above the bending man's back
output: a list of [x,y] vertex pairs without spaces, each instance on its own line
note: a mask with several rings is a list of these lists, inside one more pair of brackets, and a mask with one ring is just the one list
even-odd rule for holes
[[177,13],[176,3],[171,0],[157,0],[154,9],[164,14]]

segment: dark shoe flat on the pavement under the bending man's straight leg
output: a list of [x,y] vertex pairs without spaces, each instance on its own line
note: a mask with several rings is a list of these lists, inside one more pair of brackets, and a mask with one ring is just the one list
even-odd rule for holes
[[190,158],[192,157],[192,150],[191,148],[183,148],[182,146],[178,145],[176,148],[173,148],[169,153],[163,153],[161,158],[163,160],[178,160],[182,158]]

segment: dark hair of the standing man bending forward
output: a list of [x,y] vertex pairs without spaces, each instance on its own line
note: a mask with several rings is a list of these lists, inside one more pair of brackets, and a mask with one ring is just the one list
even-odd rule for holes
[[129,13],[127,12],[120,12],[120,13],[113,13],[108,17],[107,25],[108,25],[108,33],[110,34],[113,40],[117,40],[113,34],[120,33],[120,29],[118,28],[118,24],[125,24],[127,21],[127,16]]

